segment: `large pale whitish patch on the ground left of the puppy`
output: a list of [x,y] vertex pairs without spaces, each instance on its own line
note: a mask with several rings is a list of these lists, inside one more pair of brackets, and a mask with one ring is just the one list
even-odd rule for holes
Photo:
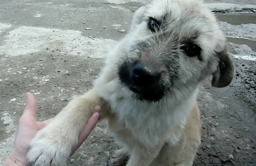
[[[8,27],[1,24],[1,27]],[[0,54],[18,56],[53,50],[68,52],[71,55],[88,55],[102,58],[110,46],[115,43],[110,39],[90,38],[82,35],[80,31],[60,30],[39,27],[21,26],[10,31],[5,37]]]

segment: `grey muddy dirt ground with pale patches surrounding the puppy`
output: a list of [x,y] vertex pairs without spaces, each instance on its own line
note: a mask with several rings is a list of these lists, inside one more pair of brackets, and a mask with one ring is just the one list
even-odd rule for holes
[[[36,6],[30,1],[22,1],[24,4],[8,6],[8,3],[3,1],[0,8],[2,9],[0,20],[6,23],[0,26],[0,163],[12,148],[17,121],[25,104],[25,93],[30,91],[36,96],[38,120],[45,120],[58,114],[73,95],[82,94],[91,88],[103,65],[102,52],[125,34],[113,27],[120,27],[116,24],[122,24],[123,29],[128,30],[127,22],[131,16],[127,13],[132,14],[136,10],[131,6],[141,5],[139,2],[120,5],[106,2],[67,1],[72,4],[69,12],[73,14],[65,15],[66,2],[62,1],[64,7],[63,4],[59,5],[62,3],[60,1],[53,1],[54,5],[45,7],[47,6],[45,2],[40,1],[41,4]],[[247,4],[250,3],[256,4],[255,1],[248,1]],[[109,7],[110,5],[116,8]],[[40,7],[42,9],[39,10]],[[30,16],[30,18],[32,12],[26,13],[28,10],[49,12],[49,15],[41,17],[45,24],[36,22],[34,20],[36,17]],[[53,17],[51,13],[55,10],[58,10],[59,23],[54,27],[52,25],[54,19],[50,17]],[[13,11],[20,16],[14,18]],[[104,13],[107,14],[104,16]],[[102,18],[95,19],[95,14]],[[85,23],[75,19],[84,15],[88,16]],[[22,21],[19,17],[22,17]],[[115,21],[112,21],[113,17]],[[62,21],[59,21],[60,19]],[[7,27],[7,24],[12,26]],[[24,26],[23,30],[15,31],[20,26]],[[241,36],[251,40],[256,40],[255,26],[255,24],[233,26],[221,23],[227,36]],[[32,32],[34,30],[32,27],[37,27],[37,30],[39,27],[39,30]],[[90,27],[92,30],[85,30],[85,27]],[[58,29],[65,29],[65,32]],[[36,32],[39,31],[40,33],[47,31],[49,35],[36,36]],[[78,31],[82,34],[74,35],[73,38],[69,36],[70,33],[74,34]],[[30,33],[35,34],[31,36]],[[61,35],[65,37],[60,37]],[[15,36],[19,37],[15,38]],[[72,45],[65,44],[64,40],[71,38]],[[38,41],[40,44],[35,45],[34,42]],[[256,57],[256,52],[245,45],[231,43],[231,53]],[[202,118],[202,145],[194,161],[195,166],[256,165],[256,63],[254,60],[238,58],[234,60],[236,75],[230,86],[212,88],[209,79],[200,89],[198,102]],[[118,147],[112,137],[107,135],[105,127],[105,122],[96,126],[70,159],[71,166],[106,165],[113,150]]]

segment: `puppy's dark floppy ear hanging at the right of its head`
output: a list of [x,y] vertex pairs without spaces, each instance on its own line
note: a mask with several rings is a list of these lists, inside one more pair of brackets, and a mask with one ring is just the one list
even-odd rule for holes
[[212,86],[223,88],[231,83],[235,73],[235,64],[228,53],[228,42],[226,42],[224,50],[217,53],[217,56],[219,64],[217,70],[212,74]]

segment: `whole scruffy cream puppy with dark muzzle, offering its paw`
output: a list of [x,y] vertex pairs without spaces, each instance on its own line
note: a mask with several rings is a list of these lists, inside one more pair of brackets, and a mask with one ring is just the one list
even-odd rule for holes
[[228,86],[234,63],[214,14],[198,0],[154,0],[107,54],[94,87],[30,143],[33,166],[66,166],[95,106],[123,148],[112,166],[192,166],[201,142],[197,93]]

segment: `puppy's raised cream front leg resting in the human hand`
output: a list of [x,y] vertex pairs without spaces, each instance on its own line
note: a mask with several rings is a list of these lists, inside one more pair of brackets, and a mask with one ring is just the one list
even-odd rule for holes
[[107,113],[107,104],[99,98],[95,89],[70,101],[30,142],[27,154],[29,164],[66,166],[70,152],[78,142],[78,135],[97,105],[101,106],[100,118],[102,119]]

